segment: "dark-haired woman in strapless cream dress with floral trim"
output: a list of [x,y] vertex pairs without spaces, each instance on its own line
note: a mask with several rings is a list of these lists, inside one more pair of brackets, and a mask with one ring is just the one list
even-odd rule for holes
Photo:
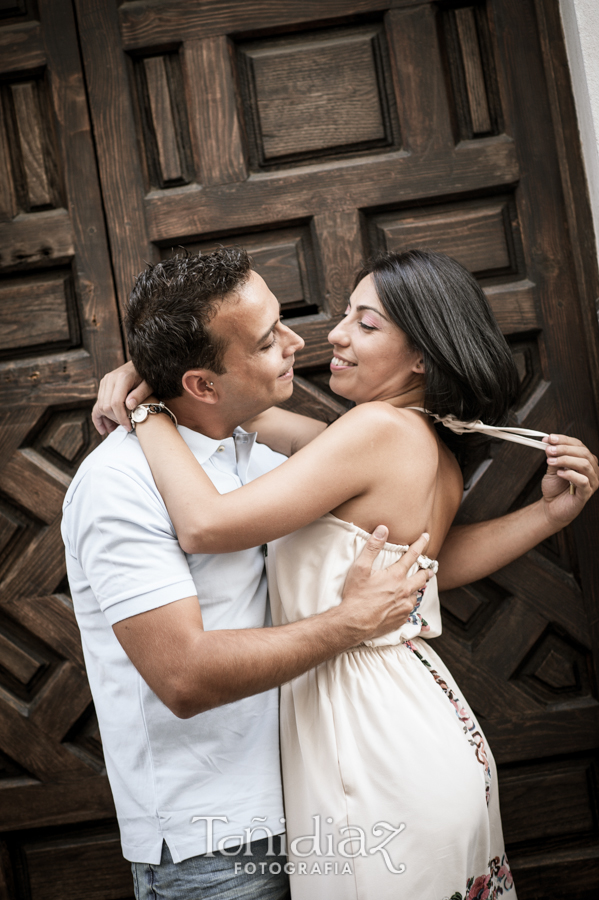
[[[331,388],[355,408],[312,441],[307,428],[288,462],[233,495],[218,494],[166,416],[137,432],[186,551],[279,539],[267,559],[275,624],[340,602],[380,521],[393,541],[380,566],[423,531],[434,557],[463,481],[421,410],[503,424],[517,391],[484,294],[441,254],[388,254],[363,269],[329,341]],[[277,421],[269,411],[254,423],[274,449]],[[422,639],[440,631],[433,578],[401,629],[282,688],[294,900],[515,897],[493,758]]]

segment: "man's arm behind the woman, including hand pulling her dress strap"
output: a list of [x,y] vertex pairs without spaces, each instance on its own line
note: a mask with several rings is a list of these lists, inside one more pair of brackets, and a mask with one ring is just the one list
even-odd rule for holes
[[439,553],[439,590],[470,584],[507,566],[569,525],[595,493],[597,457],[576,438],[552,434],[546,443],[543,498],[499,519],[451,528]]

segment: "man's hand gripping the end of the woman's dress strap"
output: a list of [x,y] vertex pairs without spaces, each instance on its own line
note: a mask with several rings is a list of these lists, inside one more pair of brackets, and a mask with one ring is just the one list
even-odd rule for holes
[[576,438],[550,434],[543,440],[548,466],[541,485],[543,505],[548,522],[558,531],[576,518],[599,487],[599,465],[597,457]]

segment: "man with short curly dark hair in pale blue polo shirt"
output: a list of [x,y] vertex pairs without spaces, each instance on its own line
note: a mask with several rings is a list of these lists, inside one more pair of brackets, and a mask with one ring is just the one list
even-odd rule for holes
[[[150,267],[129,304],[133,362],[169,401],[221,492],[284,459],[236,427],[292,391],[303,342],[273,316],[273,300],[242,251],[219,250]],[[100,428],[110,427],[109,407],[122,417],[130,374],[104,382]],[[549,498],[452,535],[457,562],[442,586],[480,578],[566,524],[597,486],[596,460],[581,445],[572,452],[576,478],[587,482],[578,497]],[[63,535],[136,896],[284,896],[281,865],[267,857],[270,836],[284,831],[274,688],[403,623],[426,581],[422,572],[407,577],[426,538],[395,572],[371,573],[383,529],[350,572],[340,607],[263,629],[261,548],[186,557],[124,428],[77,474]],[[252,860],[255,874],[239,874],[235,853]]]

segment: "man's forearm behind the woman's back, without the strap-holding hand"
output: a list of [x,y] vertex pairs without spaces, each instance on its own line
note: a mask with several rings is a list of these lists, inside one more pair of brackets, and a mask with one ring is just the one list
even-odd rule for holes
[[547,518],[542,500],[499,519],[455,525],[438,554],[439,590],[491,575],[558,530]]

